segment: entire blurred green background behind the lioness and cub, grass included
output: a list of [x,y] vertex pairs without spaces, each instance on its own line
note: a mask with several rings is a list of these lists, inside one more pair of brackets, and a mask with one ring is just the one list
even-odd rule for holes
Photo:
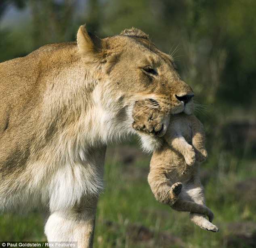
[[[171,54],[195,92],[206,128],[201,165],[219,233],[155,201],[151,154],[136,140],[108,148],[94,247],[256,247],[256,1],[1,0],[0,62],[47,43],[76,40],[86,23],[101,38],[137,27]],[[44,216],[0,216],[1,241],[44,241]]]

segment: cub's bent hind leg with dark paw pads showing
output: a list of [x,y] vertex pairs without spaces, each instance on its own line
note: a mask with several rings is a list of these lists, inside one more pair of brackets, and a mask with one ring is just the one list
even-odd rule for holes
[[150,170],[148,182],[158,202],[171,206],[178,200],[182,189],[182,183],[174,183],[172,185],[170,179],[157,168]]

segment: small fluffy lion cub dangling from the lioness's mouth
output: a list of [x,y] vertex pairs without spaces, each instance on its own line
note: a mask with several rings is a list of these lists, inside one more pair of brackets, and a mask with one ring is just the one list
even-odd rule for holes
[[[155,105],[150,99],[136,102],[134,129],[157,134],[152,130],[160,128],[157,123],[163,113]],[[214,215],[205,206],[204,189],[198,175],[199,163],[207,157],[203,125],[193,114],[171,115],[162,139],[162,147],[151,158],[148,175],[155,198],[175,210],[190,212],[189,217],[196,225],[217,232],[218,227],[211,223]]]

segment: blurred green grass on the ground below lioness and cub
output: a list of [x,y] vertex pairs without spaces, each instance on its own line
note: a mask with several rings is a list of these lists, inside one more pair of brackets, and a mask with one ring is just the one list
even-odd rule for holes
[[[150,157],[140,160],[132,166],[147,171],[149,159]],[[217,165],[220,163],[217,160],[210,155],[209,161],[202,165],[209,169],[215,168],[216,171],[205,185],[206,204],[215,214],[213,223],[220,227],[219,233],[212,233],[195,226],[189,220],[188,213],[176,212],[156,202],[147,183],[146,173],[140,176],[128,173],[127,165],[122,164],[115,156],[107,157],[105,190],[99,196],[94,247],[180,247],[164,246],[161,241],[164,233],[179,238],[184,247],[188,248],[226,248],[224,240],[228,233],[228,223],[248,220],[256,222],[255,204],[239,201],[235,192],[235,184],[246,178],[256,177],[256,169],[254,160],[235,158],[229,153],[225,153],[220,159],[222,165]],[[45,241],[43,223],[44,217],[38,213],[30,213],[28,216],[6,213],[0,216],[0,240]],[[153,233],[149,241],[138,240],[140,226]]]

